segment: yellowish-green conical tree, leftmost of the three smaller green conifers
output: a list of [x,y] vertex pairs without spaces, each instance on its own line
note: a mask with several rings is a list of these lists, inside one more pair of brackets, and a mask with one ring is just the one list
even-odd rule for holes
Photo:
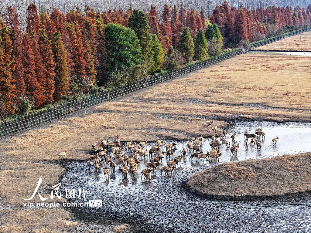
[[188,27],[183,28],[183,34],[179,37],[177,49],[183,54],[183,56],[185,56],[187,63],[192,60],[194,54],[194,44]]

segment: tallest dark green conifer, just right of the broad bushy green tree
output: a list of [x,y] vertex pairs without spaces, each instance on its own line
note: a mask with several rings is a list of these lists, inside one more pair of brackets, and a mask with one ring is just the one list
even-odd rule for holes
[[151,63],[153,63],[152,38],[145,13],[139,9],[133,11],[128,19],[128,27],[137,34],[142,50],[142,59],[146,62],[146,66],[150,68]]

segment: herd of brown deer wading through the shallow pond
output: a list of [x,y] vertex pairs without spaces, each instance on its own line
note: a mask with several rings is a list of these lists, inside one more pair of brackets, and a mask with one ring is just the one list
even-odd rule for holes
[[[203,127],[208,127],[212,125],[212,123],[213,121],[207,121]],[[187,156],[187,151],[192,152],[188,159],[191,159],[191,161],[193,161],[193,158],[196,158],[196,162],[200,162],[200,160],[203,159],[203,163],[205,159],[206,161],[209,160],[210,162],[213,159],[215,161],[219,161],[219,157],[222,155],[220,152],[220,146],[222,142],[225,142],[226,147],[230,148],[230,156],[234,155],[234,153],[237,154],[241,142],[236,141],[236,131],[234,131],[233,135],[231,135],[233,145],[230,147],[231,142],[227,139],[227,131],[225,129],[222,129],[222,132],[218,133],[217,126],[212,126],[211,130],[213,132],[213,135],[211,136],[211,142],[209,143],[211,150],[207,153],[203,153],[202,151],[203,136],[194,136],[188,138],[187,147],[183,146],[179,156],[176,156],[173,159],[173,155],[177,150],[176,143],[166,144],[164,146],[164,142],[162,140],[158,140],[156,144],[151,146],[151,148],[148,150],[145,148],[147,141],[142,141],[138,144],[136,144],[136,142],[129,141],[126,142],[124,146],[121,146],[120,137],[117,135],[114,142],[107,142],[107,139],[105,139],[100,143],[92,144],[94,157],[93,161],[91,161],[90,158],[87,159],[87,165],[89,169],[92,169],[94,165],[95,172],[98,173],[102,163],[104,163],[104,177],[105,179],[109,179],[109,171],[111,173],[115,173],[116,163],[118,163],[118,171],[122,173],[123,179],[127,179],[128,173],[131,173],[132,176],[136,176],[137,166],[142,158],[144,160],[146,158],[150,158],[150,162],[146,163],[146,169],[143,169],[141,172],[141,179],[144,177],[144,180],[146,180],[147,183],[150,183],[151,171],[157,171],[157,167],[162,164],[162,159],[165,157],[165,154],[166,159],[168,157],[169,161],[167,162],[167,166],[162,166],[160,168],[161,175],[164,172],[164,176],[172,175],[172,172],[174,171],[175,167],[178,166],[178,163],[181,163],[182,158]],[[249,145],[255,145],[256,143],[257,149],[261,150],[262,144],[258,140],[260,138],[263,140],[265,138],[265,133],[260,128],[255,130],[255,134],[248,133],[248,130],[245,130],[244,138],[246,149],[248,149]],[[272,139],[273,145],[276,145],[277,139],[279,139],[279,137]],[[107,153],[109,149],[110,153]],[[67,150],[61,152],[59,154],[59,160],[61,160],[62,157],[66,158],[66,153]],[[172,158],[172,160],[170,160],[170,158]]]

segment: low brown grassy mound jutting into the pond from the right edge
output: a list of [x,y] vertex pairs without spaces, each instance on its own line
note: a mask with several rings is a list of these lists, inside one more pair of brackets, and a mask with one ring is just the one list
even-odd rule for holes
[[225,200],[250,200],[311,193],[311,153],[228,162],[200,171],[186,189]]

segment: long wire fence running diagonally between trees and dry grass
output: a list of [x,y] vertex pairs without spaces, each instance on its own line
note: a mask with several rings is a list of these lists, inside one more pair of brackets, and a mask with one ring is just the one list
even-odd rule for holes
[[[285,37],[289,37],[289,36],[299,34],[305,31],[309,31],[309,30],[311,30],[311,27],[289,32],[289,33],[286,33],[286,34],[283,34],[277,37],[266,39],[264,41],[254,42],[251,44],[251,48],[256,48],[256,47],[283,39]],[[127,83],[123,86],[119,86],[114,89],[109,89],[109,90],[106,90],[100,93],[89,95],[84,98],[80,98],[80,99],[77,99],[71,102],[67,102],[67,103],[64,103],[64,104],[61,104],[55,107],[50,107],[49,109],[41,110],[39,112],[27,114],[26,116],[23,116],[23,117],[16,117],[13,120],[9,120],[9,121],[5,121],[1,123],[0,136],[6,135],[12,132],[16,132],[19,130],[23,130],[26,128],[30,128],[32,126],[36,126],[47,121],[51,121],[55,118],[62,117],[69,113],[76,112],[80,109],[93,106],[97,103],[102,103],[104,101],[108,101],[110,99],[123,96],[133,91],[137,91],[142,88],[156,85],[166,80],[170,80],[175,77],[190,73],[192,71],[196,71],[203,67],[211,66],[218,62],[226,60],[230,57],[234,57],[236,55],[245,53],[248,50],[249,50],[248,48],[234,49],[234,50],[231,50],[230,52],[223,53],[219,56],[212,57],[210,59],[204,60],[202,62],[197,62],[192,65],[186,65],[179,69],[166,72],[164,74],[154,75],[146,79],[138,80],[136,82]]]

